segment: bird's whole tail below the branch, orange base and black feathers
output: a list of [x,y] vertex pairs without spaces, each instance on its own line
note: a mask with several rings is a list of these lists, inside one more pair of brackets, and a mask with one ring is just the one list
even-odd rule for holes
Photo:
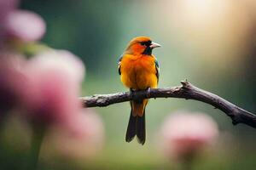
[[131,142],[135,136],[139,144],[144,144],[146,141],[146,123],[145,123],[145,106],[148,99],[143,99],[142,102],[137,103],[131,101],[131,114],[126,131],[126,142]]

